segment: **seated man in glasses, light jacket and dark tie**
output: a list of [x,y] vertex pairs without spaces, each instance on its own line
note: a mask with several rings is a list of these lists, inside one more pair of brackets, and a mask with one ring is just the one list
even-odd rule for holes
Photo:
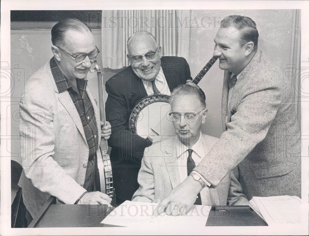
[[[190,85],[179,85],[171,93],[170,117],[176,129],[176,138],[155,143],[145,149],[142,167],[138,173],[139,188],[133,201],[151,202],[167,197],[171,190],[190,175],[217,138],[201,133],[206,119],[206,103],[202,93]],[[190,174],[191,173],[191,174]],[[248,205],[238,180],[238,167],[227,174],[216,188],[204,188],[198,194],[196,205]],[[180,209],[169,209],[170,214]]]

